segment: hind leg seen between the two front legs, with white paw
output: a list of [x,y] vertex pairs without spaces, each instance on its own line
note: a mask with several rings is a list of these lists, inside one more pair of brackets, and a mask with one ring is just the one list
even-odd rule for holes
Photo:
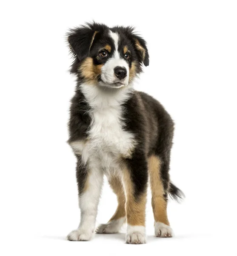
[[109,184],[113,189],[114,193],[117,195],[118,206],[108,223],[100,224],[97,227],[96,232],[102,233],[118,233],[126,222],[126,212],[125,212],[125,194],[123,189],[123,184],[119,177],[111,177],[109,179]]

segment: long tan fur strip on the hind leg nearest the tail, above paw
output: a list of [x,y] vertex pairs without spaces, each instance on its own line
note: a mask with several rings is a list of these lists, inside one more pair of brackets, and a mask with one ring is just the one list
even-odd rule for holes
[[148,169],[151,183],[151,204],[155,222],[159,221],[169,226],[167,217],[167,202],[164,198],[163,183],[160,178],[160,158],[152,155],[149,158]]

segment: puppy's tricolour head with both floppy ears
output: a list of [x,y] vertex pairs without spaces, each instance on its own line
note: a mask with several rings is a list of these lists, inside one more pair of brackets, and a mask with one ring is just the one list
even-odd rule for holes
[[68,42],[74,55],[71,73],[98,86],[127,86],[142,64],[149,64],[146,41],[132,27],[89,23],[71,29]]

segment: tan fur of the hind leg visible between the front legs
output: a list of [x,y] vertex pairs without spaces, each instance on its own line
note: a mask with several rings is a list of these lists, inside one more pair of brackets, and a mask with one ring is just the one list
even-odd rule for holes
[[111,177],[109,184],[113,189],[114,193],[117,195],[118,206],[109,221],[117,220],[118,218],[125,217],[125,194],[123,190],[123,184],[119,177]]

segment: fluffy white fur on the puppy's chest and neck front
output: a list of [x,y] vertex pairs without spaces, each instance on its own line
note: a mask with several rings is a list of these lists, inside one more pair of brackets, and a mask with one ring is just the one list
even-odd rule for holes
[[97,87],[82,85],[81,89],[91,106],[92,122],[87,141],[71,143],[76,154],[81,154],[83,162],[93,161],[109,174],[117,169],[117,160],[129,157],[134,148],[134,135],[124,130],[122,103],[129,97],[129,89],[108,95]]

